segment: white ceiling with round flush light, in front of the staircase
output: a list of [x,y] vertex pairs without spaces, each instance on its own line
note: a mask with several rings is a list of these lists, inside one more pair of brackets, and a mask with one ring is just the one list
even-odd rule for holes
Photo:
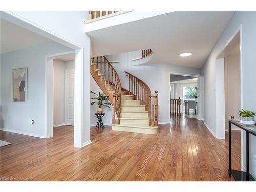
[[[201,68],[234,11],[177,11],[88,32],[92,56],[152,49],[150,63]],[[192,56],[180,57],[183,52]]]

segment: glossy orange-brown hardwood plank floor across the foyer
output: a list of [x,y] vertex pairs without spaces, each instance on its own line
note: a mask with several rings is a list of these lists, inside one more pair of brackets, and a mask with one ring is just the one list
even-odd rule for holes
[[[73,147],[73,127],[40,139],[1,131],[1,180],[230,181],[228,140],[215,139],[202,121],[173,117],[156,135],[91,128],[92,144]],[[240,169],[240,132],[232,131],[233,168]]]

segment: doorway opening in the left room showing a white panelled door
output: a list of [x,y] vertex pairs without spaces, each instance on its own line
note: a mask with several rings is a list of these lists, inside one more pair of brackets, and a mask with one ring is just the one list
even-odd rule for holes
[[53,59],[53,127],[74,131],[74,53]]

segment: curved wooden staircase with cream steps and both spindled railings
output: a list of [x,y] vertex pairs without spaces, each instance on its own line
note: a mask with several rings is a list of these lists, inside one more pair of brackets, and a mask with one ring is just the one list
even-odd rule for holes
[[91,74],[113,105],[112,130],[156,134],[158,131],[158,94],[139,78],[129,75],[129,90],[121,82],[105,56],[91,59]]

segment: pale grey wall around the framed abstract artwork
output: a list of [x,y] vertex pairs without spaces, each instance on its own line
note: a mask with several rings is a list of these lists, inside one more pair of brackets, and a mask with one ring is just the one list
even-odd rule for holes
[[[45,137],[45,55],[70,48],[50,41],[1,55],[1,126],[9,131]],[[12,102],[12,69],[28,68],[28,100]],[[34,124],[31,124],[31,120]]]

